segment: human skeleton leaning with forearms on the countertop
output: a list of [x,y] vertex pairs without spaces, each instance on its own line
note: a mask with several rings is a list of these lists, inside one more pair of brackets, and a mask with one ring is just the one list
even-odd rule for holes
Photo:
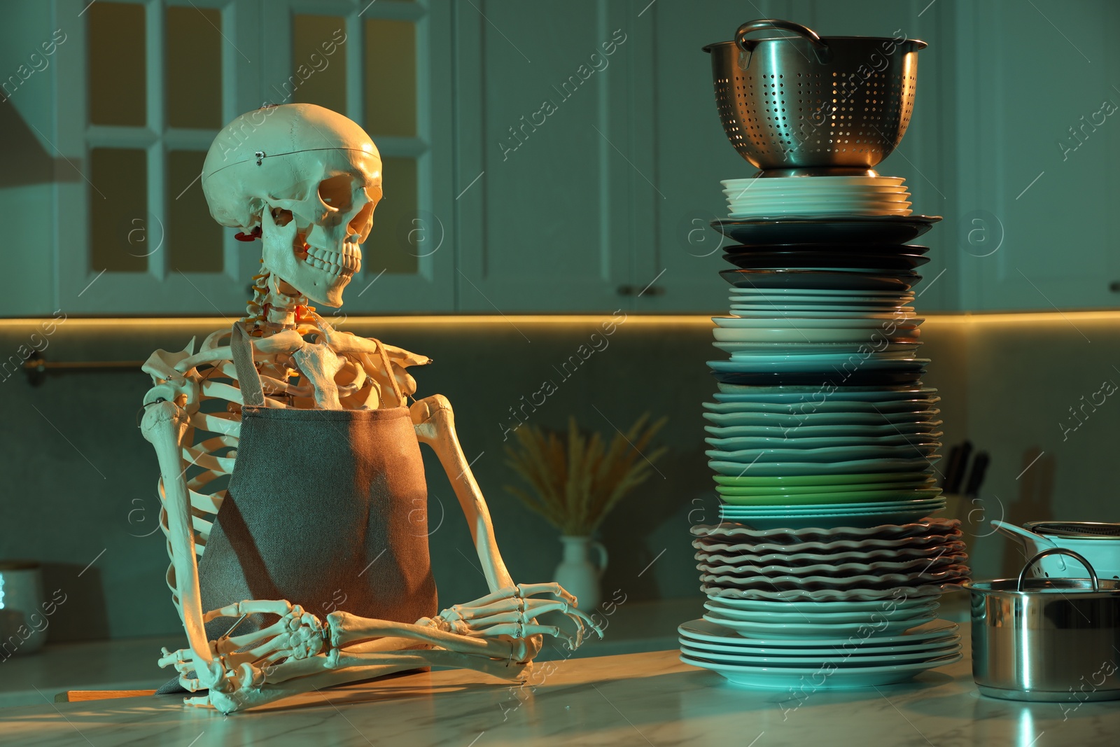
[[[141,430],[159,459],[160,524],[171,559],[167,583],[188,641],[180,651],[164,648],[159,664],[175,666],[186,690],[208,690],[186,702],[228,713],[429,665],[516,680],[530,671],[543,635],[572,647],[588,628],[601,635],[559,585],[525,586],[511,579],[486,502],[459,447],[450,403],[440,394],[405,402],[416,392],[407,368],[430,361],[338,332],[308,306],[309,300],[340,306],[343,289],[360,269],[358,245],[370,233],[382,195],[381,159],[370,137],[319,106],[267,106],[223,130],[203,176],[215,220],[249,232],[239,239],[263,243],[254,299],[242,324],[264,405],[408,407],[416,438],[436,451],[450,478],[491,594],[414,623],[368,619],[342,609],[320,619],[286,600],[246,599],[203,609],[198,561],[226,498],[226,491],[216,488],[233,473],[241,432],[243,400],[231,330],[211,334],[197,353],[194,340],[178,353],[156,351],[143,366],[153,386],[144,396]],[[292,542],[298,542],[295,527],[293,533]],[[244,635],[207,638],[204,625],[212,619],[260,613],[278,615],[279,622]],[[563,625],[536,620],[548,613],[561,615],[557,622]]]

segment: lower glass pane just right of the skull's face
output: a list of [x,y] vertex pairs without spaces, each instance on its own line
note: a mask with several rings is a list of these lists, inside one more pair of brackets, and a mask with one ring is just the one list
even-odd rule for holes
[[431,254],[444,241],[445,226],[417,209],[417,162],[411,158],[382,157],[385,195],[373,213],[373,230],[362,246],[363,272],[416,273],[419,258]]

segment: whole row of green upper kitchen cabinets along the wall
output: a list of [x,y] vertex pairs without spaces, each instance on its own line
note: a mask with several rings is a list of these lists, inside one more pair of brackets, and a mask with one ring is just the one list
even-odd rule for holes
[[0,316],[240,314],[259,248],[213,224],[196,177],[218,128],[265,101],[342,111],[381,149],[347,314],[718,310],[729,242],[708,223],[719,181],[754,168],[701,47],[758,17],[930,44],[878,169],[944,216],[920,240],[922,310],[1120,301],[1117,2],[86,4],[13,3],[0,28],[0,209],[9,243],[36,248],[13,253]]

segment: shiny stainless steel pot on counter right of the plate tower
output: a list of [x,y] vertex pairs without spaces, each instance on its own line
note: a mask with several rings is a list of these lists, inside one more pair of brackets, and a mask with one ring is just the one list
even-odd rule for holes
[[[1028,578],[1052,554],[1089,569],[1088,579]],[[981,694],[1081,703],[1120,698],[1120,581],[1098,580],[1082,555],[1044,550],[1017,579],[971,581],[972,678]]]

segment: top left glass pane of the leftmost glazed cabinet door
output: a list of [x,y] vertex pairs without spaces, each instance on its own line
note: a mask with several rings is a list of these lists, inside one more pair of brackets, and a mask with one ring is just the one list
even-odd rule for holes
[[143,6],[95,2],[85,16],[90,122],[143,127],[148,122]]

